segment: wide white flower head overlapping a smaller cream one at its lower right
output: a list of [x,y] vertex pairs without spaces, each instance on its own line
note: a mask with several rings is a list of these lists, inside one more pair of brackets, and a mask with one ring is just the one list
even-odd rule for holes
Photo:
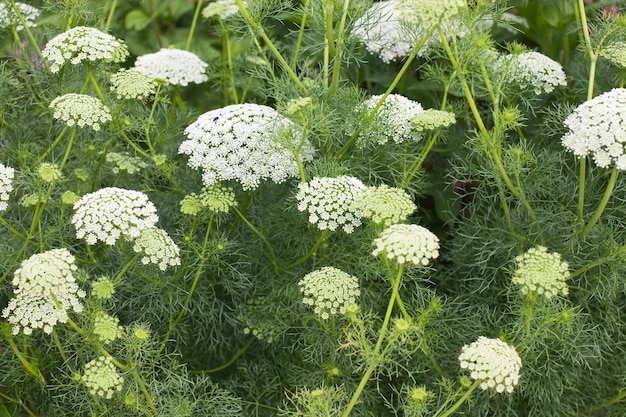
[[148,196],[134,190],[107,187],[85,194],[74,204],[72,224],[76,237],[94,245],[114,245],[123,237],[133,240],[158,221]]

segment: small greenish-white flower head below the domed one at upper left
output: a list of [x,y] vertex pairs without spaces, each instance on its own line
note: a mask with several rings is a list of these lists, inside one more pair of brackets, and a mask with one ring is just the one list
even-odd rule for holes
[[68,93],[52,100],[50,108],[57,120],[67,126],[90,127],[100,130],[100,125],[111,121],[111,112],[97,98],[86,94]]

